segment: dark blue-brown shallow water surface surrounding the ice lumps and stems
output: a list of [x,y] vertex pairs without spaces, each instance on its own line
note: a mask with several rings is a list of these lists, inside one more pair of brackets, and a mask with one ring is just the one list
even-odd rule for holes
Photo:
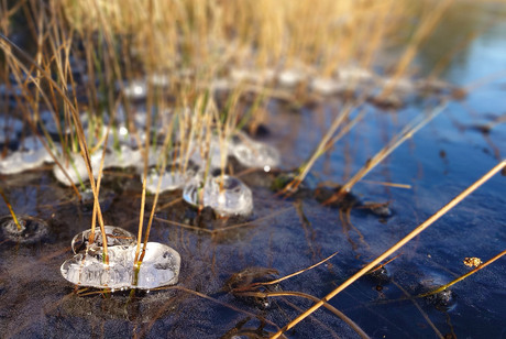
[[[447,24],[468,22],[471,10],[475,9],[461,9]],[[505,11],[494,8],[480,9],[472,17],[474,28],[483,33],[452,59],[442,75],[446,79],[472,86],[488,75],[506,73],[506,26],[501,18]],[[444,36],[439,43],[455,36]],[[428,52],[418,61],[421,73],[432,69],[437,59],[429,51],[438,42],[427,44]],[[180,253],[179,283],[134,296],[92,289],[90,295],[76,295],[59,273],[61,264],[73,255],[72,239],[89,228],[90,203],[79,205],[69,188],[57,184],[51,167],[3,176],[2,188],[18,214],[46,220],[50,230],[42,242],[0,240],[1,337],[248,338],[272,333],[311,302],[294,296],[238,297],[227,292],[229,278],[249,269],[246,276],[266,281],[277,275],[261,267],[284,276],[339,251],[329,262],[277,287],[317,297],[328,294],[505,156],[506,123],[494,125],[488,133],[479,129],[504,118],[505,85],[505,76],[497,76],[473,88],[464,100],[450,102],[354,187],[353,194],[363,203],[391,201],[393,216],[386,219],[354,209],[350,222],[344,222],[338,209],[323,207],[311,197],[283,200],[265,187],[263,173],[241,177],[253,192],[254,212],[248,220],[201,220],[180,200],[180,192],[162,195],[160,206],[174,204],[156,214],[150,241],[166,243]],[[294,112],[273,101],[268,107],[271,134],[262,141],[280,151],[284,168],[293,168],[318,144],[340,105],[329,98]],[[319,182],[343,183],[427,107],[427,100],[410,100],[397,112],[370,107],[366,119],[317,162],[312,175]],[[136,232],[141,184],[122,174],[106,176],[102,210],[108,225]],[[373,338],[436,338],[431,324],[442,336],[506,336],[504,258],[451,287],[448,305],[408,298],[469,272],[464,258],[486,261],[505,249],[504,192],[505,177],[496,175],[403,248],[386,265],[385,274],[359,280],[330,304]],[[7,214],[7,207],[0,205],[0,216]],[[287,336],[358,337],[328,310],[318,310]]]

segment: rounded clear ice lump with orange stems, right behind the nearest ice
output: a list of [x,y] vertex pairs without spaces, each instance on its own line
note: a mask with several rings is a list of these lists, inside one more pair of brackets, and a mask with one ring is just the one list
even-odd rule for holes
[[249,215],[253,210],[251,189],[229,175],[202,183],[194,181],[183,190],[183,199],[193,206],[209,206],[220,216]]

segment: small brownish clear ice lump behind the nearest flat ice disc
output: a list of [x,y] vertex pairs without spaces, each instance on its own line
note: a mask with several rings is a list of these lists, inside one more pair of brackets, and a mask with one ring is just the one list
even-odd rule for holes
[[[131,232],[114,226],[105,226],[107,243],[109,247],[130,247],[135,245],[136,237]],[[89,234],[91,229],[82,231],[74,237],[72,240],[72,250],[75,254],[81,252],[88,245]],[[94,244],[102,247],[102,232],[97,227],[95,230]]]

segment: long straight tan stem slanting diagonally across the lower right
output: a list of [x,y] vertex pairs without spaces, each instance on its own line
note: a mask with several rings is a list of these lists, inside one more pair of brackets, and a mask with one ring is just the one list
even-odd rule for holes
[[420,234],[425,229],[427,229],[429,226],[431,226],[433,222],[436,222],[439,218],[444,216],[449,210],[451,210],[453,207],[455,207],[459,203],[461,203],[463,199],[465,199],[470,194],[472,194],[474,190],[476,190],[480,186],[482,186],[484,183],[486,183],[490,178],[492,178],[495,174],[501,172],[503,168],[506,167],[506,160],[502,161],[497,165],[495,165],[491,171],[488,171],[485,175],[483,175],[480,179],[477,179],[474,184],[469,186],[466,189],[464,189],[461,194],[459,194],[455,198],[453,198],[450,203],[448,203],[446,206],[443,206],[440,210],[438,210],[435,215],[432,215],[430,218],[428,218],[426,221],[420,223],[416,229],[414,229],[409,234],[407,234],[404,239],[398,241],[396,244],[394,244],[392,248],[389,248],[387,251],[385,251],[383,254],[377,256],[375,260],[373,260],[371,263],[365,265],[362,270],[353,274],[350,278],[348,278],[344,283],[342,283],[340,286],[338,286],[336,289],[333,289],[331,293],[329,293],[327,296],[321,298],[318,303],[316,303],[312,307],[307,309],[305,313],[299,315],[297,318],[295,318],[293,321],[290,321],[288,325],[286,325],[280,331],[278,331],[276,335],[273,336],[273,338],[279,338],[283,332],[289,330],[290,328],[295,327],[298,322],[304,320],[307,316],[312,314],[315,310],[323,306],[324,303],[333,298],[336,295],[338,295],[340,292],[342,292],[344,288],[353,284],[355,281],[358,281],[361,276],[373,270],[377,264],[380,264],[382,261],[384,261],[386,258],[395,253],[397,250],[399,250],[402,247],[404,247],[406,243],[408,243],[411,239]]

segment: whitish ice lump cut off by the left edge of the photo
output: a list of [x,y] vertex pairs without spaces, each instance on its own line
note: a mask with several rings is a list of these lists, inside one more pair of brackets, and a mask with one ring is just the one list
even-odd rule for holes
[[21,147],[0,161],[1,174],[15,174],[36,168],[43,163],[53,162],[53,157],[36,136],[25,138]]

